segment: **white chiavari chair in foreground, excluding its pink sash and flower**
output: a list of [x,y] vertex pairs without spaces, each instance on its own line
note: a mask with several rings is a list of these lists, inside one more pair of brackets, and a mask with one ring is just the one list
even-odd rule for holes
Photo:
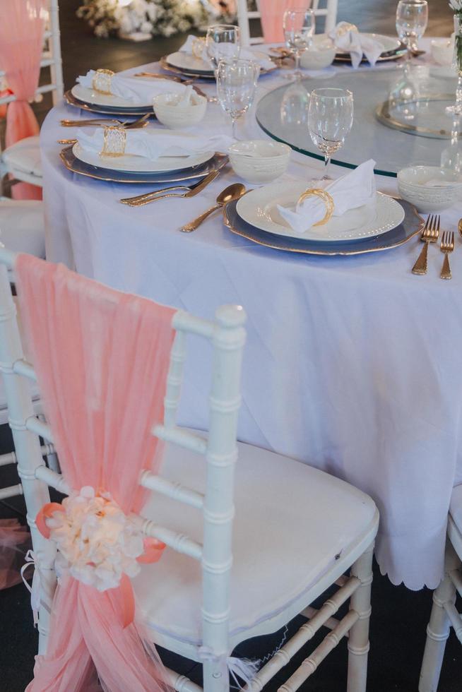
[[[35,416],[28,393],[27,379],[33,381],[35,374],[23,357],[6,271],[15,261],[14,253],[0,249],[0,367],[45,599],[54,590],[54,547],[37,531],[35,516],[48,501],[48,487],[65,494],[70,489],[42,460],[39,436],[49,443],[53,436]],[[137,616],[153,643],[203,664],[206,692],[227,692],[235,646],[278,631],[302,613],[302,627],[248,689],[260,691],[325,626],[330,632],[280,689],[299,688],[345,637],[348,691],[365,692],[377,508],[367,495],[331,475],[236,442],[244,320],[237,306],[219,308],[214,321],[174,314],[165,417],[153,428],[167,443],[162,475],[141,474],[140,484],[153,493],[141,515],[132,515],[146,536],[170,550],[156,565],[144,565],[132,581]],[[212,364],[206,434],[176,423],[191,337],[211,345],[201,349]],[[319,610],[312,608],[334,584],[338,590]],[[336,619],[348,599],[348,613]],[[40,652],[46,649],[48,628],[42,606]],[[201,690],[186,677],[169,674],[178,692]]]

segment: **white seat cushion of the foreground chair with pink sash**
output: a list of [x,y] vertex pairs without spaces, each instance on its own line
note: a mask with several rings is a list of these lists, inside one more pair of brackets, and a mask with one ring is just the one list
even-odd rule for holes
[[[168,445],[162,477],[203,492],[205,466],[199,455]],[[232,647],[263,633],[265,623],[267,632],[275,631],[278,614],[287,614],[291,604],[299,605],[300,598],[309,596],[312,587],[338,564],[340,555],[348,554],[369,534],[372,542],[377,532],[377,508],[369,496],[324,472],[242,443],[235,510]],[[202,542],[199,510],[152,493],[142,514]],[[173,638],[180,643],[176,651],[184,655],[190,652],[181,644],[201,645],[201,566],[197,561],[167,548],[158,563],[143,566],[133,583],[137,614],[152,629],[155,643],[166,645],[167,638]]]

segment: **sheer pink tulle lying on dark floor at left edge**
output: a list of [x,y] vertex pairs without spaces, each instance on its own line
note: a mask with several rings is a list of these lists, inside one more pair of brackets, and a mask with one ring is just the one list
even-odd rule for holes
[[0,519],[0,589],[19,584],[20,568],[30,548],[30,533],[17,519]]

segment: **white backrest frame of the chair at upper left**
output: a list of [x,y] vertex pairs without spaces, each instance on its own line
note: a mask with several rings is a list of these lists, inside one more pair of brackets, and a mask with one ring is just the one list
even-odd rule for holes
[[[42,84],[35,90],[35,99],[40,100],[42,94],[52,93],[53,105],[61,100],[64,93],[63,68],[61,61],[61,38],[59,31],[58,0],[48,0],[48,18],[43,37],[43,53],[40,67],[45,75]],[[4,82],[5,71],[0,65],[0,84]],[[8,87],[5,83],[4,86]],[[16,101],[14,94],[0,96],[0,105]]]

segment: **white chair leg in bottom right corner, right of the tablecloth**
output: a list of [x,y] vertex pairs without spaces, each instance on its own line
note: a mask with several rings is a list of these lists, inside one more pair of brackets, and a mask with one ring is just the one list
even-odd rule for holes
[[452,583],[449,572],[459,565],[460,561],[448,540],[444,558],[444,578],[433,592],[432,614],[427,625],[427,641],[420,669],[419,692],[436,692],[438,688],[444,649],[451,627],[444,604],[454,603],[456,600],[456,587]]

